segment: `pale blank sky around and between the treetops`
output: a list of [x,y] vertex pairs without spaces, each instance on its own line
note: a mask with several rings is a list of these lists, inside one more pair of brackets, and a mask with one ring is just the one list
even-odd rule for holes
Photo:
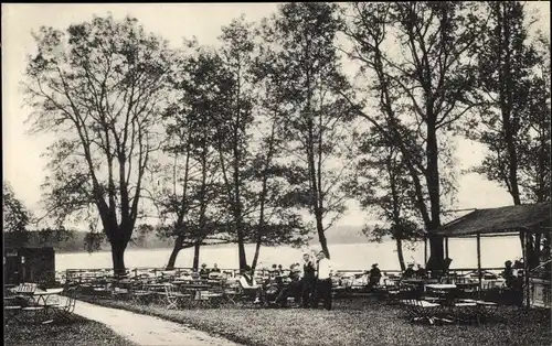
[[[550,37],[550,1],[529,1],[529,8],[540,20],[540,29]],[[3,180],[14,190],[15,196],[35,214],[41,215],[40,185],[45,177],[46,160],[41,153],[51,142],[47,136],[30,136],[24,120],[30,109],[23,106],[19,83],[22,79],[25,56],[33,52],[32,31],[41,25],[66,29],[70,24],[92,20],[93,14],[112,12],[116,19],[131,15],[144,24],[146,31],[168,40],[174,47],[182,39],[197,36],[201,44],[216,42],[221,26],[242,13],[248,21],[258,22],[270,15],[277,3],[2,3],[2,171]],[[477,143],[459,140],[456,158],[461,169],[477,165],[485,149]],[[497,183],[477,174],[458,180],[457,208],[499,207],[512,204],[510,195]],[[360,226],[365,213],[354,203],[339,226]]]

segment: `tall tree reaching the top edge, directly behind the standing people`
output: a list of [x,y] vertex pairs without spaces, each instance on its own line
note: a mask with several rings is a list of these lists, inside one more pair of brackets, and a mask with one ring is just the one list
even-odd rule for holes
[[[336,4],[286,3],[267,23],[267,36],[275,46],[275,68],[282,78],[288,116],[285,140],[288,154],[297,159],[295,170],[307,177],[297,203],[315,218],[322,251],[330,256],[325,231],[344,212],[347,195],[341,188],[349,166],[332,164],[346,159],[347,128],[352,112],[339,96],[344,88],[336,48],[339,22]],[[347,162],[347,159],[346,159]]]

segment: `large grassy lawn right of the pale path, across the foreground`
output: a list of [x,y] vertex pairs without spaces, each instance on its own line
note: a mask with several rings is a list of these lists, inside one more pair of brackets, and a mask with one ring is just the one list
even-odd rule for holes
[[397,306],[369,300],[337,300],[332,311],[222,307],[168,311],[158,305],[100,300],[179,322],[246,345],[551,345],[550,312],[500,307],[492,321],[477,325],[411,324]]

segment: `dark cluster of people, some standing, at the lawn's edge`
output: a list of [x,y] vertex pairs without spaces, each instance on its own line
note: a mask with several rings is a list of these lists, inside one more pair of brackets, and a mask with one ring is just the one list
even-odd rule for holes
[[255,291],[256,303],[274,301],[279,306],[286,306],[287,299],[294,298],[302,307],[317,309],[322,301],[323,307],[331,310],[332,267],[323,251],[316,255],[316,260],[310,253],[304,253],[302,264],[291,264],[287,278],[282,275],[282,268],[277,268],[279,271],[272,271],[268,279],[257,283],[251,268],[246,268],[241,274],[240,284],[244,290]]

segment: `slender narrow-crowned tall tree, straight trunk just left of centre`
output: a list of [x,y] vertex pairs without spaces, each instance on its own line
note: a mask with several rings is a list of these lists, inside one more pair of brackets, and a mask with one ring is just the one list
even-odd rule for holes
[[[245,167],[251,161],[251,127],[253,123],[253,85],[251,67],[255,51],[253,24],[244,17],[233,20],[222,29],[219,37],[220,56],[227,73],[230,96],[223,101],[225,111],[217,115],[215,147],[220,155],[220,167],[225,186],[225,196],[233,217],[233,233],[237,239],[240,269],[247,266],[245,253],[246,231],[244,209],[246,183]],[[251,176],[250,176],[251,177]]]

